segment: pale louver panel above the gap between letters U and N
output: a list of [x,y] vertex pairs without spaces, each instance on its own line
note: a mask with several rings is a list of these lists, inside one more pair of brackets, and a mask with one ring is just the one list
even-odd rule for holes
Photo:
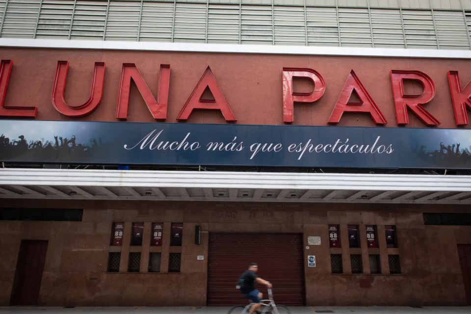
[[136,41],[140,15],[140,1],[110,1],[105,40]]

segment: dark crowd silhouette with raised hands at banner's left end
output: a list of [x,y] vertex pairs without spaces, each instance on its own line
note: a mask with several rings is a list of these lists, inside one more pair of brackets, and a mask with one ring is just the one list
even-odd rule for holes
[[10,140],[4,134],[0,136],[0,160],[2,161],[79,161],[92,157],[94,153],[103,149],[101,137],[91,139],[90,144],[77,142],[75,135],[69,139],[54,136],[54,141],[30,140],[24,135],[18,139]]

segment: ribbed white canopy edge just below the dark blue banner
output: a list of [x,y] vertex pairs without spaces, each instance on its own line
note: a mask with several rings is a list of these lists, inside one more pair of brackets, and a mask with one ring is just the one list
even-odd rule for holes
[[3,168],[1,185],[466,192],[471,176]]

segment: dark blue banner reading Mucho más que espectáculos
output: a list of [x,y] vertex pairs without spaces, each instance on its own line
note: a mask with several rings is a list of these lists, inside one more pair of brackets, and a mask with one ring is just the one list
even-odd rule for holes
[[471,130],[0,120],[0,161],[471,169]]

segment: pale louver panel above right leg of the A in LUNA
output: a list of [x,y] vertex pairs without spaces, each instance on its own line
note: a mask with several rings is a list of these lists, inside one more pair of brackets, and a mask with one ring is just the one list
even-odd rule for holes
[[208,43],[238,44],[239,31],[239,5],[209,4]]

